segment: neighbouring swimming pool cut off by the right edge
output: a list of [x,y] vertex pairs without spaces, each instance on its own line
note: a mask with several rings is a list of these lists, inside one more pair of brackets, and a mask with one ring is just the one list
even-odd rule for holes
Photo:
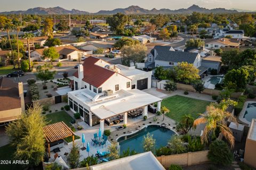
[[250,125],[253,118],[256,118],[256,102],[246,101],[241,113],[239,114],[239,120]]

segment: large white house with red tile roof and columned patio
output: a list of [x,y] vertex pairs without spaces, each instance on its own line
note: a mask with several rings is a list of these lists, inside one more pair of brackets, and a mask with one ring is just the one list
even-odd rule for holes
[[78,66],[71,82],[74,91],[68,92],[71,111],[78,112],[90,126],[127,124],[127,115],[148,115],[148,105],[161,98],[140,89],[151,87],[151,72],[134,67],[112,65],[96,57],[88,57]]

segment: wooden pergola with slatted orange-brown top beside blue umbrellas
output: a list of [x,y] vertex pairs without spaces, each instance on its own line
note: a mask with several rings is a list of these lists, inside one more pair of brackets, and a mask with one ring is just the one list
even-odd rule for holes
[[48,143],[49,157],[51,157],[50,155],[51,142],[73,136],[73,144],[74,144],[75,133],[62,121],[44,126],[43,131],[44,131],[44,137]]

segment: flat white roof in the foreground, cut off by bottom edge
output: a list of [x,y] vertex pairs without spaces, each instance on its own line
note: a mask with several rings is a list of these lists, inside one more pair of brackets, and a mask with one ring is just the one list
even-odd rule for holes
[[93,165],[90,167],[91,170],[134,170],[134,169],[147,169],[147,170],[164,170],[165,168],[161,165],[152,152],[144,152],[125,158],[112,160],[107,163]]

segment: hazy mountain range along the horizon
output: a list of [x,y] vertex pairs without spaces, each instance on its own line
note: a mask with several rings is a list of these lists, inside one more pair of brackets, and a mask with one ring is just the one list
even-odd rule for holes
[[[189,14],[193,12],[201,12],[201,13],[237,13],[237,10],[227,10],[225,8],[214,8],[214,9],[207,9],[203,7],[199,7],[198,5],[192,5],[188,8],[180,8],[179,10],[170,10],[167,8],[162,8],[157,10],[153,8],[152,10],[147,10],[145,8],[141,8],[139,6],[129,6],[127,8],[116,8],[115,10],[106,11],[101,10],[94,15],[112,15],[116,13],[124,13],[124,14]],[[89,12],[86,11],[79,11],[79,10],[65,10],[62,7],[35,7],[30,8],[27,11],[9,11],[9,12],[0,12],[0,14],[88,14]]]

